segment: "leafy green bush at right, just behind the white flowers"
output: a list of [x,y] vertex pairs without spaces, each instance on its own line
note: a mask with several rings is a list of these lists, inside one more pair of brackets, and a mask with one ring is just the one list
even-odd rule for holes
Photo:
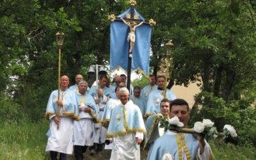
[[196,101],[198,106],[203,107],[191,113],[190,125],[207,118],[214,122],[219,132],[222,132],[223,126],[230,124],[236,129],[240,144],[256,145],[256,132],[254,129],[256,127],[256,110],[250,106],[251,101],[241,99],[227,103],[209,92],[199,93],[196,96]]

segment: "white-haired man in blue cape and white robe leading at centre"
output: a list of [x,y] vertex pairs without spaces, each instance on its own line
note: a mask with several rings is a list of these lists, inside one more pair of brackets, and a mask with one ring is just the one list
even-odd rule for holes
[[106,136],[113,138],[110,159],[140,159],[140,143],[145,125],[140,108],[129,101],[127,88],[120,88],[118,97],[121,104],[113,108]]

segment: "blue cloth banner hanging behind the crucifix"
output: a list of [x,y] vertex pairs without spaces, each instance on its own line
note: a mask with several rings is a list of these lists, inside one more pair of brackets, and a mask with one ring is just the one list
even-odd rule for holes
[[[117,17],[125,18],[126,14],[131,14],[131,8]],[[134,9],[134,15],[138,15],[139,20],[145,20],[140,13]],[[140,70],[143,74],[149,74],[149,54],[152,28],[148,24],[138,26],[135,31],[136,39],[132,49],[131,71]],[[129,26],[122,21],[111,22],[110,36],[110,71],[122,68],[127,72],[129,42],[127,36]]]

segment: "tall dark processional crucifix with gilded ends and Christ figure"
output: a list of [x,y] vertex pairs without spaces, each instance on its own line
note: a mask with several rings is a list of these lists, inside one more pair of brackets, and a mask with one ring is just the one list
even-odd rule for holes
[[122,21],[124,24],[129,26],[130,32],[127,35],[127,40],[129,41],[129,54],[128,54],[128,63],[127,63],[127,88],[130,90],[131,86],[131,63],[132,63],[132,48],[135,42],[135,31],[136,27],[139,27],[143,24],[148,24],[150,26],[154,26],[156,22],[153,19],[150,20],[139,20],[138,15],[134,15],[134,6],[136,5],[135,0],[130,0],[131,4],[131,14],[127,13],[125,18],[115,17],[115,15],[109,15],[109,20],[113,21]]

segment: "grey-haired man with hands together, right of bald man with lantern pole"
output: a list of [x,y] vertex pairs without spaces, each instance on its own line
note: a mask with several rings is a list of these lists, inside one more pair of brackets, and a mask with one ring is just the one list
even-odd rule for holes
[[94,123],[98,123],[96,104],[92,95],[86,93],[88,83],[80,81],[79,92],[76,94],[77,106],[79,107],[79,122],[74,122],[74,154],[77,160],[83,160],[83,153],[88,146],[93,146]]

